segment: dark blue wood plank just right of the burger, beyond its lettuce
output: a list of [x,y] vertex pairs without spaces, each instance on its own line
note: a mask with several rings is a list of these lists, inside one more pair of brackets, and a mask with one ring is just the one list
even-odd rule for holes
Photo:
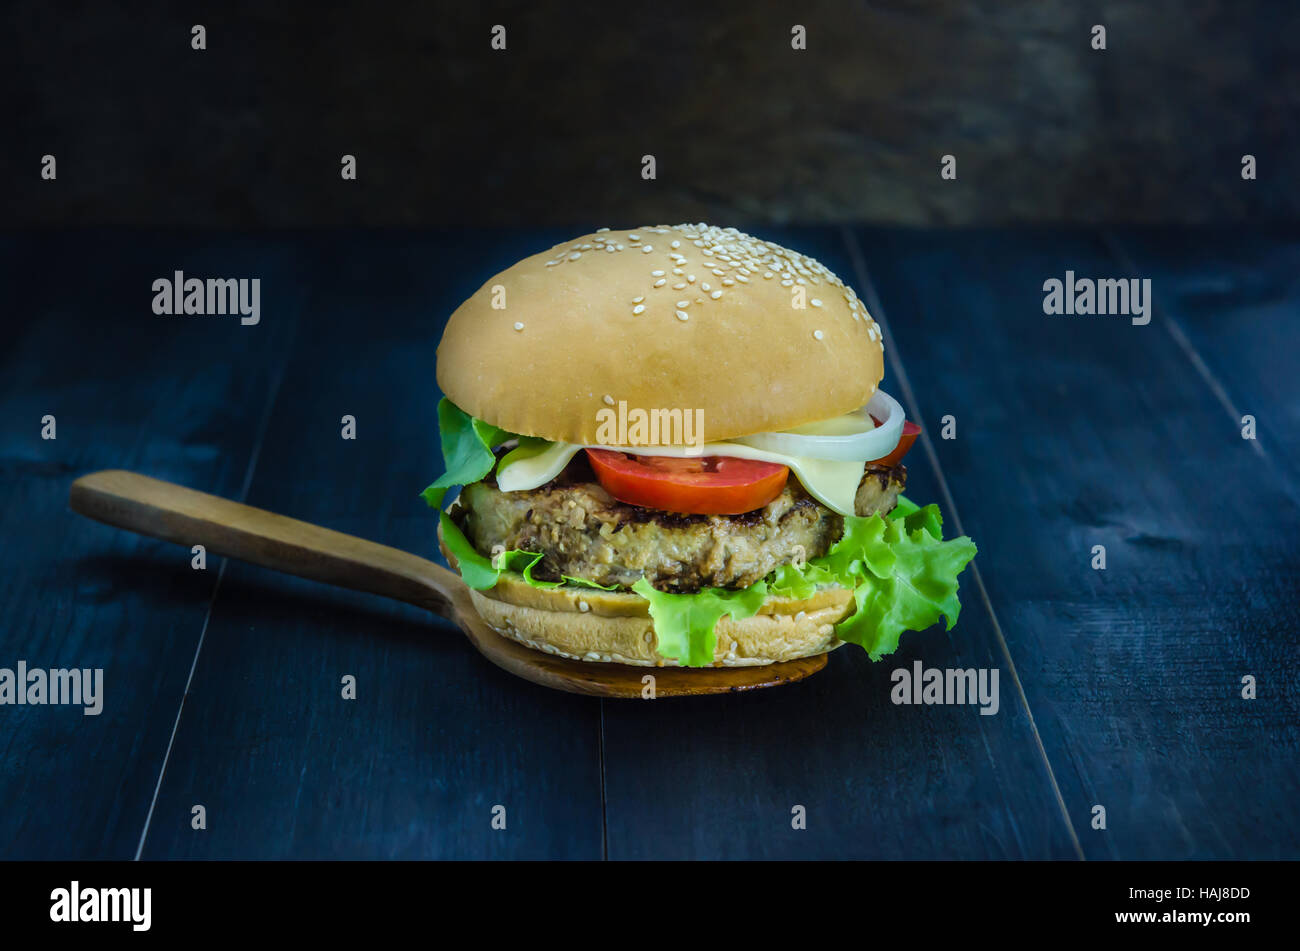
[[958,418],[932,444],[1087,855],[1300,855],[1300,517],[1278,474],[1158,316],[1044,314],[1067,269],[1127,277],[1100,240],[858,239],[923,424]]

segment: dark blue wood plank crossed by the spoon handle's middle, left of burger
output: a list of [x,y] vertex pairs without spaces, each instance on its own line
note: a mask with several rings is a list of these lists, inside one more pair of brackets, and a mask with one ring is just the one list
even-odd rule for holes
[[[443,318],[545,247],[328,242],[248,503],[436,556],[417,494],[441,472]],[[417,608],[233,564],[144,857],[601,857],[599,709],[499,670]],[[194,804],[207,830],[191,829]]]

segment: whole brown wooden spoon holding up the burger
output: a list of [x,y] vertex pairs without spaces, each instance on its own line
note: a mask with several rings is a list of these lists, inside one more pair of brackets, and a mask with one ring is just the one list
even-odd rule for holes
[[640,698],[647,674],[655,678],[655,696],[729,694],[793,683],[826,666],[824,653],[737,668],[644,668],[566,660],[497,634],[474,611],[469,589],[456,574],[398,548],[121,469],[82,476],[73,482],[68,501],[73,512],[120,529],[186,547],[202,544],[208,552],[299,578],[428,608],[456,624],[497,666],[573,694]]

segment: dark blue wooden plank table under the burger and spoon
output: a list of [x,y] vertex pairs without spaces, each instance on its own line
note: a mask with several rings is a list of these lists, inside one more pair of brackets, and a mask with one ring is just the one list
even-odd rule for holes
[[[655,703],[66,505],[125,468],[432,556],[442,321],[564,234],[0,239],[0,666],[105,672],[100,716],[0,707],[0,857],[1300,857],[1300,235],[763,234],[866,296],[909,495],[980,553],[950,634]],[[176,269],[259,277],[260,323],[153,316]],[[1150,323],[1045,316],[1067,269],[1150,278]],[[894,705],[916,660],[998,713]]]

